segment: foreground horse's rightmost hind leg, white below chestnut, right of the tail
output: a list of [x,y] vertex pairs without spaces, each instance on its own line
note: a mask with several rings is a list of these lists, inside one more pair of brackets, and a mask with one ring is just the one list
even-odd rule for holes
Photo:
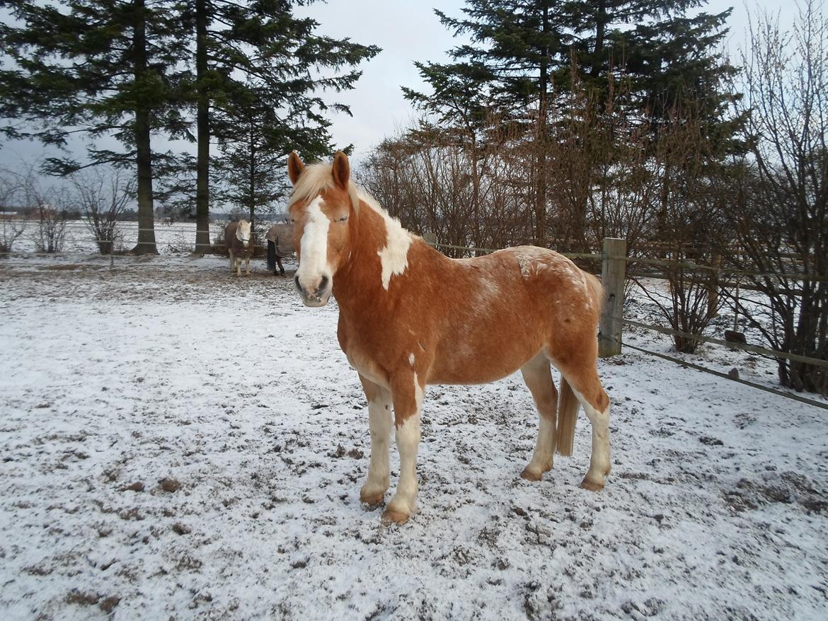
[[580,486],[594,492],[604,488],[604,477],[609,474],[609,397],[601,386],[595,361],[567,363],[556,366],[570,384],[575,397],[584,407],[592,425],[592,455],[590,469]]

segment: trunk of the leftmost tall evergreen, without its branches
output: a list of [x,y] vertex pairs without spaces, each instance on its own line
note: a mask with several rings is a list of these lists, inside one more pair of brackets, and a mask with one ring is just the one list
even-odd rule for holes
[[[135,32],[132,36],[135,56],[135,82],[137,89],[147,74],[147,33],[144,0],[135,0]],[[155,241],[155,214],[152,206],[152,150],[150,149],[150,114],[147,105],[139,98],[135,110],[135,151],[137,165],[138,243],[132,252],[157,254]]]

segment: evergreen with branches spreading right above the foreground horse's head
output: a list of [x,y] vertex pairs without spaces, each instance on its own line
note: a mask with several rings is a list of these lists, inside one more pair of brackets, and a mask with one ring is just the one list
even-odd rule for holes
[[[348,39],[315,34],[310,18],[294,16],[296,0],[194,0],[196,99],[196,250],[209,246],[209,142],[214,135],[231,158],[250,162],[244,183],[265,178],[286,152],[309,156],[330,152],[329,110],[319,96],[353,88],[361,75],[354,70],[380,49]],[[343,68],[348,68],[340,72]],[[333,75],[318,75],[320,69]],[[341,104],[330,106],[350,113]],[[267,122],[267,126],[263,122]],[[226,170],[226,167],[225,167]],[[231,177],[231,180],[235,176]],[[252,202],[272,189],[246,190]]]

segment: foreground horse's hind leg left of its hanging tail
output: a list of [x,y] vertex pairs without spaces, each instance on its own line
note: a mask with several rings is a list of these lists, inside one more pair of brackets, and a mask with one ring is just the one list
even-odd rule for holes
[[521,477],[529,481],[540,481],[543,473],[552,468],[552,454],[555,452],[555,419],[557,415],[558,392],[552,381],[549,360],[539,354],[521,368],[523,381],[526,382],[532,398],[535,400],[540,422],[537,430],[537,445],[532,461],[523,469]]

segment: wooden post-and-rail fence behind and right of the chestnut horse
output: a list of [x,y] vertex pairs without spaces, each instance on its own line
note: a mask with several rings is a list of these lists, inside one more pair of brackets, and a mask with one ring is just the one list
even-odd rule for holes
[[[465,246],[457,246],[453,244],[444,244],[444,243],[436,243],[433,235],[426,233],[423,236],[426,239],[427,243],[430,243],[435,248],[452,248],[455,250],[465,250],[469,253],[493,253],[496,251],[494,248],[469,248]],[[773,349],[766,349],[763,347],[758,347],[756,345],[749,345],[749,344],[740,344],[740,343],[731,343],[730,341],[722,340],[722,339],[715,339],[709,336],[703,335],[696,335],[696,334],[689,334],[686,332],[681,332],[680,330],[673,330],[672,328],[667,328],[663,325],[652,325],[652,324],[644,324],[639,321],[633,321],[624,319],[623,317],[623,287],[624,282],[628,277],[628,263],[639,263],[642,265],[650,265],[650,266],[657,266],[657,267],[682,267],[688,270],[700,270],[700,271],[708,271],[713,272],[717,276],[724,273],[727,275],[734,275],[736,277],[739,276],[753,276],[753,277],[765,277],[765,278],[787,278],[790,280],[807,280],[811,282],[828,282],[828,276],[822,275],[812,275],[812,274],[801,274],[801,273],[761,273],[761,272],[749,272],[745,270],[730,270],[725,269],[722,267],[712,267],[706,265],[699,265],[696,263],[691,262],[676,262],[676,261],[664,261],[660,259],[650,259],[650,258],[638,258],[638,257],[629,257],[627,255],[627,243],[624,239],[618,238],[605,238],[604,239],[604,248],[603,252],[600,254],[595,253],[561,253],[563,256],[567,258],[579,258],[579,259],[590,259],[594,261],[601,262],[601,283],[604,286],[604,304],[601,310],[601,317],[599,321],[599,356],[601,358],[609,358],[614,355],[618,355],[622,353],[623,347],[628,347],[629,349],[633,349],[638,351],[642,354],[647,354],[651,356],[655,356],[659,359],[668,360],[672,363],[680,364],[686,368],[693,368],[697,371],[701,371],[703,373],[710,373],[711,375],[715,375],[719,378],[724,378],[732,382],[744,384],[746,386],[750,386],[752,388],[757,388],[758,390],[762,390],[764,392],[771,392],[775,395],[780,397],[785,397],[787,399],[792,399],[793,401],[806,403],[807,405],[820,407],[821,409],[828,410],[828,403],[816,401],[815,399],[809,399],[807,397],[802,397],[800,395],[794,394],[792,392],[785,392],[782,390],[777,390],[776,388],[770,388],[768,386],[763,386],[763,384],[750,382],[749,380],[736,378],[731,376],[729,373],[722,373],[720,371],[716,371],[711,368],[703,367],[696,363],[691,363],[683,359],[679,359],[673,356],[668,356],[667,354],[661,354],[659,352],[650,351],[648,349],[640,348],[633,344],[625,344],[623,343],[623,326],[628,325],[631,327],[640,328],[643,330],[652,330],[654,332],[664,334],[664,335],[671,335],[671,336],[683,336],[687,338],[694,339],[696,341],[702,343],[710,343],[710,344],[717,344],[723,345],[729,349],[739,349],[742,351],[750,352],[753,354],[761,354],[764,356],[768,356],[770,358],[781,358],[792,360],[796,362],[802,362],[807,364],[812,364],[818,367],[828,368],[828,361],[816,358],[810,358],[807,356],[802,356],[799,354],[791,354],[789,352],[782,352],[776,351]],[[654,277],[654,278],[667,278],[662,274],[646,274],[647,277]],[[727,286],[730,283],[723,282],[717,278],[717,282],[720,286]]]

